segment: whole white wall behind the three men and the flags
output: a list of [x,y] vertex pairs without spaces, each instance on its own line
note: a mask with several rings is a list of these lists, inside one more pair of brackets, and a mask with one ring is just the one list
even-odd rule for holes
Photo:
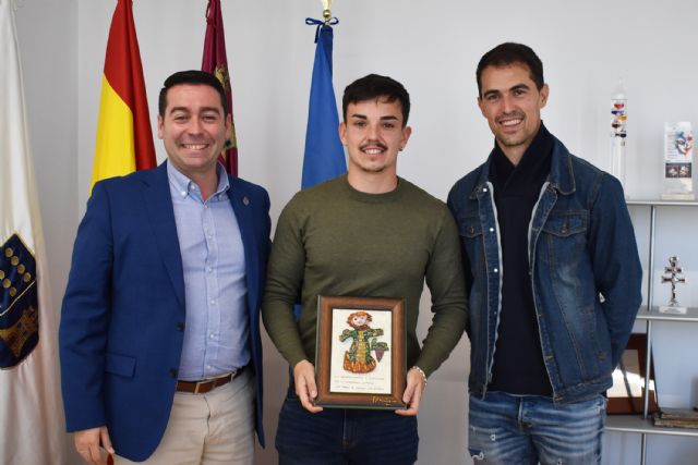
[[[24,3],[17,27],[44,224],[53,232],[46,236],[58,299],[72,234],[87,198],[100,76],[116,1]],[[165,77],[201,65],[205,5],[205,0],[134,2],[152,114]],[[304,19],[318,17],[321,2],[224,0],[222,9],[240,173],[268,188],[276,220],[300,185],[314,53],[314,28],[305,26]],[[412,97],[414,132],[400,155],[399,172],[441,198],[492,147],[476,106],[474,69],[482,53],[505,40],[528,44],[539,53],[551,87],[545,124],[573,152],[600,168],[609,166],[611,93],[618,77],[625,78],[631,197],[655,198],[661,192],[663,122],[691,121],[698,126],[695,2],[336,0],[334,14],[340,20],[334,54],[338,97],[348,83],[370,72],[401,81]],[[152,123],[155,126],[155,118]],[[164,159],[159,142],[156,148]],[[633,209],[642,224],[646,213]],[[698,247],[687,237],[697,227],[698,210],[663,210],[657,267],[667,255],[678,254],[689,281],[696,282]],[[638,230],[646,256],[643,234],[646,228]],[[686,284],[681,296],[698,306],[698,292],[691,289],[695,284]],[[660,286],[655,304],[665,292]],[[429,322],[428,301],[423,302],[421,331]],[[698,362],[677,355],[698,348],[693,331],[694,327],[674,323],[655,330],[660,403],[663,393],[673,404],[698,400]],[[269,445],[260,454],[260,464],[275,463],[273,438],[286,384],[285,363],[268,342],[265,346]],[[420,414],[422,464],[470,461],[465,452],[467,359],[462,341],[430,380]],[[682,376],[673,377],[676,372]],[[605,463],[638,463],[639,438],[610,433],[605,450]],[[698,453],[698,440],[652,437],[648,453],[648,463],[682,462]]]

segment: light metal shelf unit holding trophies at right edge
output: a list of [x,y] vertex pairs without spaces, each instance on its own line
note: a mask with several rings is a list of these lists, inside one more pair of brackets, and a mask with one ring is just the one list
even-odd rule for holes
[[[654,234],[657,227],[657,210],[659,207],[698,207],[698,201],[685,200],[627,200],[629,206],[646,206],[650,212],[650,231],[649,231],[649,256],[648,256],[648,276],[647,276],[647,302],[651,305],[654,294]],[[650,372],[652,364],[652,323],[661,321],[685,321],[698,322],[698,308],[688,308],[686,315],[660,314],[659,307],[647,305],[642,306],[637,315],[638,320],[646,323],[647,347],[645,359],[645,372]],[[652,424],[649,416],[649,376],[645,377],[645,392],[642,396],[642,415],[609,415],[606,418],[606,431],[631,432],[640,435],[640,464],[645,465],[647,461],[647,436],[648,435],[667,435],[698,437],[698,429],[687,428],[666,428],[658,427]]]

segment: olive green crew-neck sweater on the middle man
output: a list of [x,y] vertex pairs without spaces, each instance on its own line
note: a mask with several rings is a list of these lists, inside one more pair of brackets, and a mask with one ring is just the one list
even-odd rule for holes
[[[262,317],[294,366],[315,363],[318,295],[406,301],[407,364],[428,376],[448,357],[468,318],[458,231],[441,200],[399,179],[395,191],[365,194],[340,176],[302,191],[279,217]],[[432,326],[417,341],[426,279]],[[300,321],[293,303],[302,303]]]

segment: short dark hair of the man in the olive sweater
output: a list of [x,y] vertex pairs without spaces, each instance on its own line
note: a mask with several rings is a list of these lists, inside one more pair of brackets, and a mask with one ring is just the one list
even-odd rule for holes
[[407,93],[402,84],[378,74],[369,74],[349,84],[345,89],[341,99],[341,112],[345,122],[347,122],[347,107],[349,103],[359,101],[374,100],[385,98],[386,101],[393,102],[398,100],[402,107],[402,126],[407,125],[407,119],[410,115],[410,95]]

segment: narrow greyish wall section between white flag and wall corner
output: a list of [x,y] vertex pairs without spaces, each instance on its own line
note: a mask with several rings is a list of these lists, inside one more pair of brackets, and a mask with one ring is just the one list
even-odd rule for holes
[[58,301],[77,227],[77,5],[74,1],[19,3],[15,17],[32,150],[53,271],[52,294]]

